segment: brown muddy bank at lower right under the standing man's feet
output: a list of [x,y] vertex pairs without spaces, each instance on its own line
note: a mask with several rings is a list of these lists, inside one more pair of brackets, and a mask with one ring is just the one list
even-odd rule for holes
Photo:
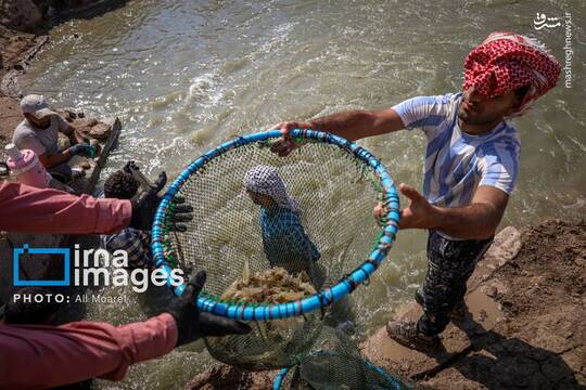
[[[472,315],[448,326],[444,351],[410,351],[380,329],[365,354],[437,389],[585,389],[585,227],[549,220],[504,231],[469,283]],[[419,312],[412,303],[398,316]]]

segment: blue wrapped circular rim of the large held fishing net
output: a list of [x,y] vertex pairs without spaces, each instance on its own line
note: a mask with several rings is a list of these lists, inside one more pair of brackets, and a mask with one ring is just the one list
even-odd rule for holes
[[[395,234],[397,233],[397,225],[399,220],[399,199],[397,195],[397,190],[393,183],[393,179],[386,172],[386,169],[374,157],[370,152],[362,148],[361,146],[356,145],[341,136],[333,135],[330,133],[324,133],[316,130],[292,130],[291,135],[294,138],[305,138],[309,140],[320,141],[336,145],[343,150],[352,153],[355,158],[360,159],[374,170],[374,174],[381,180],[381,184],[384,188],[386,198],[388,199],[388,212],[386,219],[390,223],[385,226],[384,234],[380,240],[378,247],[371,251],[369,259],[360,264],[357,269],[349,273],[348,276],[341,280],[337,284],[326,288],[321,291],[318,291],[311,297],[302,299],[301,301],[286,302],[279,304],[260,304],[260,306],[234,306],[219,302],[206,297],[198,298],[198,308],[200,310],[211,312],[217,315],[221,315],[228,318],[233,320],[243,320],[243,321],[270,321],[279,318],[288,318],[291,316],[302,315],[304,313],[311,312],[317,309],[321,309],[326,306],[331,304],[334,301],[340,300],[352,291],[352,283],[348,280],[352,280],[354,285],[360,285],[366,280],[374,273],[378,266],[374,264],[380,264],[381,261],[386,257],[386,252],[391,244],[393,244]],[[170,275],[170,266],[165,259],[163,252],[163,222],[165,219],[165,212],[170,205],[176,193],[179,192],[179,188],[188,180],[188,178],[202,168],[208,160],[218,157],[219,155],[239,146],[251,144],[254,142],[266,141],[269,139],[277,139],[281,136],[280,130],[269,130],[259,133],[254,133],[250,135],[243,135],[232,141],[226,142],[220,146],[207,152],[200,158],[191,162],[183,172],[175,180],[175,182],[169,186],[168,191],[163,196],[163,200],[158,205],[158,209],[155,213],[153,229],[152,229],[152,252],[156,263],[156,266],[162,269],[165,272],[167,277],[167,286],[171,290],[180,296],[183,294],[186,287],[184,284],[174,286],[174,280]]]

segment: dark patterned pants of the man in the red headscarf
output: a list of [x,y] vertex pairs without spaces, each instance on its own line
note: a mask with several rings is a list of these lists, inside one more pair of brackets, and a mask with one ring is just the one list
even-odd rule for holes
[[423,315],[418,328],[428,336],[438,335],[449,323],[448,313],[463,302],[466,283],[493,237],[454,240],[430,231],[428,237],[428,273],[418,294]]

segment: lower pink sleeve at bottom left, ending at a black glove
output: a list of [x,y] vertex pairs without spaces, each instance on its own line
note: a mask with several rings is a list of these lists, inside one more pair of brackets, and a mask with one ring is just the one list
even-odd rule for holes
[[169,353],[176,343],[177,326],[168,313],[118,327],[99,322],[0,326],[0,388],[119,380],[131,364]]

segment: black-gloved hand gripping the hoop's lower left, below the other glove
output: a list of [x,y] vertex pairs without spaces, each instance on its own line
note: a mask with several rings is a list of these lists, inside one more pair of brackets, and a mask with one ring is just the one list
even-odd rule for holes
[[176,347],[205,336],[245,335],[251,332],[251,327],[244,323],[207,312],[200,312],[195,301],[204,284],[205,271],[200,271],[188,283],[183,295],[177,298],[166,310],[177,323]]

